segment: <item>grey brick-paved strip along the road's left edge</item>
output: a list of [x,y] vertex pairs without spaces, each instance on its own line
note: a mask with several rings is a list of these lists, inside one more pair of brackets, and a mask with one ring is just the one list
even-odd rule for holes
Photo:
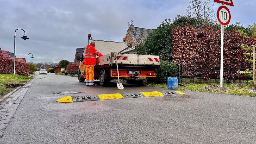
[[0,138],[2,138],[4,130],[10,123],[11,118],[15,116],[14,113],[16,109],[20,105],[23,97],[26,95],[34,79],[35,76],[0,103]]

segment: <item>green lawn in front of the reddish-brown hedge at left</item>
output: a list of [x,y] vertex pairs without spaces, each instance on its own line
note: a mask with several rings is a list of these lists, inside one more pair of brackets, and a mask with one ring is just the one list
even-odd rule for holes
[[0,98],[15,89],[5,88],[7,84],[24,83],[27,82],[29,79],[31,78],[26,76],[20,76],[17,74],[0,74]]

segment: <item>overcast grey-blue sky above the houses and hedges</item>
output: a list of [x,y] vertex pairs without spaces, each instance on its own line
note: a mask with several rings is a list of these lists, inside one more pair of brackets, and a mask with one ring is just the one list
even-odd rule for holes
[[[233,1],[230,24],[256,22],[255,0]],[[121,41],[131,20],[136,27],[155,29],[166,18],[185,15],[186,5],[188,0],[0,0],[0,47],[14,52],[14,31],[22,28],[29,40],[19,38],[22,30],[16,32],[16,57],[27,60],[33,53],[36,63],[73,62],[88,33],[93,39]],[[220,5],[214,3],[215,9]]]

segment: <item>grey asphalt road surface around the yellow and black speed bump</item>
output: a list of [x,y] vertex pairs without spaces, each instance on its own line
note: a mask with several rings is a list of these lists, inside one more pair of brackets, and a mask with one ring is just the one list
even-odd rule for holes
[[0,143],[256,143],[256,98],[182,91],[182,96],[58,103],[68,95],[164,91],[85,87],[77,78],[37,75]]

